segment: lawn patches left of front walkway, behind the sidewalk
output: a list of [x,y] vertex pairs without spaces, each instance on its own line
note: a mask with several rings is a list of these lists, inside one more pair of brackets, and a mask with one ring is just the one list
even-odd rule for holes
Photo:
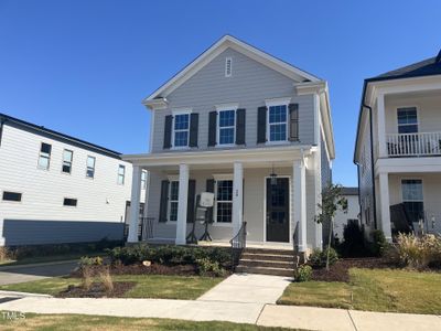
[[[157,298],[194,300],[217,285],[223,278],[183,277],[161,275],[112,276],[114,281],[135,281],[126,298]],[[1,290],[23,291],[55,296],[68,285],[79,285],[78,278],[54,277],[21,284],[0,286]]]

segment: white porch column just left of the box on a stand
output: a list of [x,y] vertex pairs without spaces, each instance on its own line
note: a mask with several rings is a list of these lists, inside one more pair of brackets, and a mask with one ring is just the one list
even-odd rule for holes
[[186,237],[186,205],[189,200],[189,164],[180,164],[179,196],[178,196],[178,222],[176,245],[185,245]]

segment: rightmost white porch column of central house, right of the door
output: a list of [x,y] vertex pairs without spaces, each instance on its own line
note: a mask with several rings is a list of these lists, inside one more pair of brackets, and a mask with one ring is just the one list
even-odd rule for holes
[[293,162],[292,178],[292,205],[294,224],[299,224],[299,252],[306,252],[306,172],[303,159]]

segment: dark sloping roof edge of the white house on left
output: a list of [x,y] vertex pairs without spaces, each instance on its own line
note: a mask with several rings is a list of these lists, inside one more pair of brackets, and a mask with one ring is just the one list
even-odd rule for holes
[[71,145],[77,146],[79,148],[88,149],[90,151],[105,154],[107,157],[111,157],[115,159],[121,159],[120,152],[107,149],[105,147],[101,147],[101,146],[72,137],[72,136],[67,136],[65,134],[62,134],[62,132],[58,132],[55,130],[47,129],[43,126],[37,126],[35,124],[32,124],[32,122],[29,122],[29,121],[25,121],[25,120],[22,120],[22,119],[19,119],[19,118],[15,118],[15,117],[2,114],[2,113],[0,113],[0,124],[1,125],[12,125],[22,130],[28,130],[28,131],[32,131],[32,132],[41,135],[41,136],[46,136],[54,140],[71,143]]

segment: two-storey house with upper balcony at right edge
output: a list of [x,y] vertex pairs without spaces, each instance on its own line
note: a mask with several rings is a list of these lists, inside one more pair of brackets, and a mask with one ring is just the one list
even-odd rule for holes
[[441,231],[440,109],[441,52],[365,79],[354,154],[361,215],[389,241],[420,220]]

